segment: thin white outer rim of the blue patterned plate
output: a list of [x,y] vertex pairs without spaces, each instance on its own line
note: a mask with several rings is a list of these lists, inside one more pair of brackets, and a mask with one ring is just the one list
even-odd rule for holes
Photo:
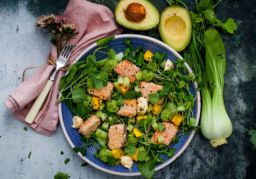
[[[141,39],[145,39],[145,40],[149,40],[152,42],[155,42],[163,47],[165,47],[166,49],[168,49],[169,51],[171,51],[177,58],[179,59],[183,59],[181,57],[181,55],[176,52],[173,48],[171,48],[169,45],[165,44],[164,42],[161,42],[160,40],[157,40],[155,38],[152,37],[148,37],[145,35],[137,35],[137,34],[121,34],[121,35],[115,35],[114,39],[119,39],[119,38],[141,38]],[[91,50],[92,48],[94,48],[95,46],[97,46],[96,43],[93,43],[92,45],[90,45],[88,48],[86,48],[82,53],[80,53],[76,59],[73,61],[73,64],[76,63],[77,61],[79,61],[79,59],[89,50]],[[189,67],[189,65],[187,64],[187,62],[184,63],[186,66],[186,69],[188,70],[189,73],[192,73],[191,68]],[[68,71],[66,72],[66,74],[68,73]],[[66,75],[65,74],[65,75]],[[194,87],[197,88],[197,83],[194,83]],[[199,122],[199,118],[200,118],[200,113],[201,113],[201,97],[200,97],[200,92],[196,91],[197,94],[197,112],[196,112],[196,126],[198,125]],[[59,94],[59,99],[62,96],[62,94]],[[61,103],[58,104],[58,111],[59,111],[59,118],[60,118],[60,124],[61,124],[61,128],[63,130],[63,133],[68,141],[68,143],[71,145],[72,148],[75,147],[74,143],[71,141],[67,130],[65,128],[64,125],[64,120],[63,120],[63,116],[62,116],[62,108],[61,108]],[[158,167],[156,167],[155,171],[160,170],[161,168],[164,168],[165,166],[167,166],[168,164],[172,163],[175,159],[177,159],[180,154],[187,148],[187,146],[189,145],[190,141],[192,140],[193,136],[195,134],[195,131],[192,130],[192,132],[190,133],[190,136],[188,137],[186,143],[183,145],[183,147],[179,150],[179,152],[177,152],[170,160],[166,161],[165,163],[163,163],[162,165],[159,165]],[[112,171],[112,170],[108,170],[106,168],[103,168],[93,162],[91,162],[89,159],[87,159],[86,157],[83,157],[82,154],[80,152],[77,153],[83,160],[85,160],[87,163],[89,163],[90,165],[92,165],[93,167],[104,171],[106,173],[110,173],[110,174],[114,174],[114,175],[121,175],[121,176],[138,176],[141,175],[140,172],[134,172],[134,173],[125,173],[125,172],[117,172],[117,171]]]

